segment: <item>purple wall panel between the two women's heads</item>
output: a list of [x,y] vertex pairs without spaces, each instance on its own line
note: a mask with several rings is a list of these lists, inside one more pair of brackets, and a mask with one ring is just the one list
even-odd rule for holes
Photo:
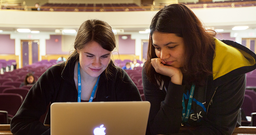
[[[122,36],[127,36],[127,39],[122,39]],[[118,36],[118,51],[119,54],[135,54],[135,39],[131,39],[131,35]]]

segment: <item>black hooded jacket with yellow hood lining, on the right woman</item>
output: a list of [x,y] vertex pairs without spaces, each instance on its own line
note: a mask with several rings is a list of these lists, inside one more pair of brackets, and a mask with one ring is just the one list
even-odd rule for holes
[[184,123],[196,126],[193,131],[178,133],[182,124],[182,98],[189,94],[191,85],[176,85],[169,79],[159,89],[148,81],[142,70],[145,100],[151,103],[147,135],[231,135],[234,128],[240,126],[245,73],[256,68],[256,56],[236,42],[215,39],[215,43],[213,75],[208,76],[206,86],[195,87],[190,116]]

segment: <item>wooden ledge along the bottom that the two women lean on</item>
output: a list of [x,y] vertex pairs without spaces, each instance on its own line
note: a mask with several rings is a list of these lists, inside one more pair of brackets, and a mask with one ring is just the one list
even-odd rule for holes
[[[50,125],[46,125],[50,126]],[[10,125],[0,125],[0,135],[10,135]],[[232,135],[255,135],[256,127],[237,127]]]

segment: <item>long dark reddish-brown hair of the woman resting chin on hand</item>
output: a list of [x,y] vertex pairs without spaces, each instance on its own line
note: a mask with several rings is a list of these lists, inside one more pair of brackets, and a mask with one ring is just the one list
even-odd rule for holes
[[206,30],[197,16],[183,4],[171,4],[163,7],[152,19],[148,45],[148,60],[145,62],[146,75],[150,82],[159,86],[163,75],[157,73],[151,65],[151,59],[157,58],[152,45],[152,34],[174,33],[182,37],[185,45],[186,59],[183,76],[188,83],[204,85],[204,80],[212,74],[214,56],[214,30]]

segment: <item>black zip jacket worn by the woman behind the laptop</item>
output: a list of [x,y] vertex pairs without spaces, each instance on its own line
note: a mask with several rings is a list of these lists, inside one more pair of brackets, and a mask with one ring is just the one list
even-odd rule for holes
[[[10,129],[15,135],[50,135],[50,108],[44,124],[39,121],[49,103],[77,102],[74,81],[75,60],[49,68],[33,85],[19,111],[11,120]],[[112,63],[112,61],[111,61]],[[100,101],[142,101],[136,85],[121,68],[109,64],[112,75],[101,74],[95,100]],[[121,77],[122,76],[122,77]]]

